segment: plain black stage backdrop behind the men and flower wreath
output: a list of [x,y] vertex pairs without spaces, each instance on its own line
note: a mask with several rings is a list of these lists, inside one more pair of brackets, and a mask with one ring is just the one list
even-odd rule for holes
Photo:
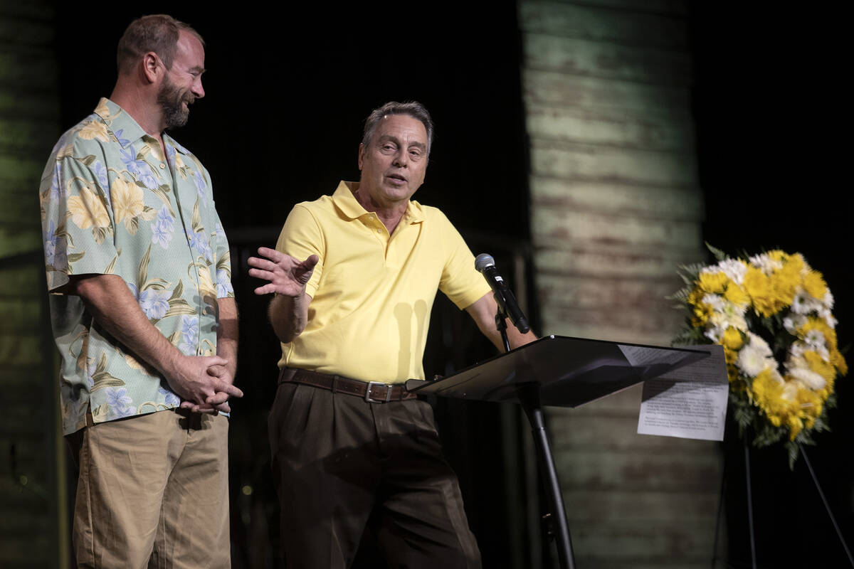
[[[493,253],[500,267],[509,266],[501,261],[524,253],[529,235],[520,37],[516,5],[508,2],[383,10],[212,6],[148,3],[145,11],[166,11],[208,41],[207,96],[173,136],[211,172],[220,218],[238,252],[232,259],[242,311],[238,381],[246,397],[235,405],[231,428],[235,566],[259,556],[270,566],[275,557],[261,550],[268,537],[275,541],[277,524],[266,410],[278,345],[266,323],[266,300],[251,293],[255,283],[245,276],[245,257],[254,247],[272,245],[295,202],[358,177],[362,121],[371,108],[415,99],[436,121],[428,176],[416,199],[441,207],[475,253]],[[848,260],[851,183],[843,168],[851,121],[839,87],[848,67],[841,61],[845,31],[836,23],[839,16],[741,4],[690,7],[704,237],[728,253],[771,247],[803,253],[836,296],[840,345],[847,345],[854,283]],[[59,3],[57,10],[66,129],[90,113],[99,96],[109,95],[114,46],[127,22],[143,12],[126,3],[97,18],[71,3]],[[536,322],[535,304],[531,316]],[[467,319],[437,299],[427,374],[492,353]],[[819,435],[818,448],[808,452],[851,541],[850,384],[838,380],[841,404],[830,411],[834,433]],[[495,436],[498,411],[436,402],[436,414],[484,566],[502,566],[524,520],[512,519],[512,504],[500,497],[507,477],[522,474],[504,468],[505,441]],[[519,433],[528,435],[521,427]],[[518,440],[511,437],[509,444]],[[744,450],[734,433],[723,448],[729,564],[749,566]],[[752,490],[760,566],[846,565],[804,461],[790,472],[782,450],[752,451]]]

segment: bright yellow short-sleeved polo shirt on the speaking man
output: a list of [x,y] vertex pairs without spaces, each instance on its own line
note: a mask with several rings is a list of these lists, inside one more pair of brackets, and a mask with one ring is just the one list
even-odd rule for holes
[[279,367],[365,381],[424,379],[430,308],[441,290],[460,309],[490,291],[475,259],[436,207],[410,201],[389,235],[342,182],[334,195],[294,206],[276,248],[320,261],[306,285],[306,329],[282,344]]

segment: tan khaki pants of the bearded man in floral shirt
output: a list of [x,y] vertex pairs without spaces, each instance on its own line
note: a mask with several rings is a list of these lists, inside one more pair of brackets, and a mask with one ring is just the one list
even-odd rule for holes
[[228,420],[185,409],[70,435],[79,567],[230,567]]

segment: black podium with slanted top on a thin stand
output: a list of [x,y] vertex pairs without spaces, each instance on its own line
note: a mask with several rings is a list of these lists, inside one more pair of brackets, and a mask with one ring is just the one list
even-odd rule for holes
[[708,355],[686,348],[547,336],[442,379],[408,380],[407,389],[439,397],[522,405],[531,424],[555,522],[560,566],[573,569],[569,525],[542,406],[577,407]]

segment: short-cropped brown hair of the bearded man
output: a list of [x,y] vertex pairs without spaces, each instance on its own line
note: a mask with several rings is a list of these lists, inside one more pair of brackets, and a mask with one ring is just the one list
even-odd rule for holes
[[133,20],[127,26],[119,40],[119,48],[116,49],[115,61],[119,73],[130,72],[139,58],[149,51],[155,52],[163,61],[163,65],[171,69],[181,30],[196,36],[202,46],[205,44],[199,32],[170,15],[155,14]]

